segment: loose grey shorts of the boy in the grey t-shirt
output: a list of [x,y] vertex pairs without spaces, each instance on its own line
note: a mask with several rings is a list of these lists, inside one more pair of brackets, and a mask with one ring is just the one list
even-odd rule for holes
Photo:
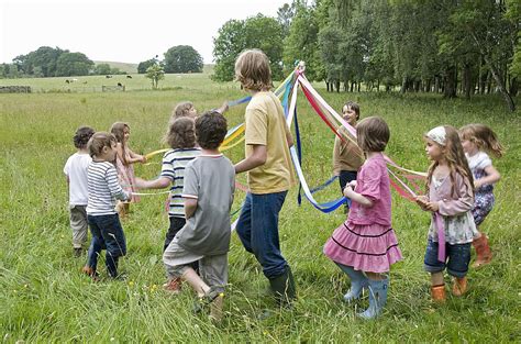
[[174,237],[163,254],[168,277],[181,277],[193,262],[199,262],[199,274],[209,287],[224,291],[228,284],[228,253],[214,256],[198,255],[179,246],[177,237]]

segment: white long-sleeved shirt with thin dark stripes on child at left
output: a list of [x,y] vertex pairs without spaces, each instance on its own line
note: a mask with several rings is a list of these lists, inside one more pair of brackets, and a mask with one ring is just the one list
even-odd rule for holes
[[112,163],[91,162],[87,169],[89,202],[87,214],[110,215],[115,214],[115,200],[128,200],[128,195],[118,181],[118,173]]

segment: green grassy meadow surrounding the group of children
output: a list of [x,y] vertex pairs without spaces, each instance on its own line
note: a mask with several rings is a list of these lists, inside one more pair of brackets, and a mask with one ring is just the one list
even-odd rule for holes
[[[162,136],[175,103],[191,100],[201,112],[224,100],[244,97],[237,84],[215,84],[208,74],[167,75],[163,90],[149,90],[143,76],[125,81],[125,92],[99,92],[104,77],[78,78],[78,87],[59,91],[65,78],[0,80],[30,85],[38,91],[0,95],[0,335],[5,343],[27,342],[520,342],[521,341],[521,176],[519,169],[521,112],[510,113],[498,96],[443,100],[434,95],[385,92],[328,93],[335,109],[352,99],[362,116],[381,115],[391,129],[387,154],[398,164],[426,170],[422,134],[440,124],[490,125],[507,146],[495,159],[502,179],[496,208],[483,225],[494,249],[490,265],[468,274],[469,292],[450,296],[443,306],[430,300],[429,276],[422,270],[430,221],[414,203],[393,192],[392,221],[404,259],[391,270],[389,299],[376,321],[363,321],[355,304],[342,302],[347,278],[323,254],[322,246],[345,219],[342,210],[324,214],[293,188],[280,213],[282,253],[292,266],[299,300],[291,311],[278,310],[255,258],[232,237],[226,315],[215,326],[191,312],[193,295],[185,288],[173,297],[165,281],[162,245],[168,225],[165,196],[142,197],[123,221],[129,254],[121,262],[126,280],[92,282],[80,274],[86,257],[74,258],[68,223],[67,186],[63,166],[75,152],[71,137],[84,124],[107,131],[115,121],[131,126],[131,147],[148,153],[164,147]],[[87,87],[85,86],[85,87]],[[76,87],[76,84],[75,84]],[[51,90],[51,92],[48,92]],[[520,103],[521,99],[517,99]],[[229,125],[243,121],[245,106],[231,108]],[[332,175],[333,134],[300,93],[303,170],[310,186]],[[239,162],[242,145],[226,152]],[[136,175],[154,178],[160,157],[136,166]],[[245,181],[244,176],[239,180]],[[317,193],[320,201],[339,197],[336,184]],[[237,191],[233,209],[244,198]],[[473,254],[474,258],[474,254]],[[448,278],[446,279],[450,282]],[[264,309],[274,314],[259,320]]]

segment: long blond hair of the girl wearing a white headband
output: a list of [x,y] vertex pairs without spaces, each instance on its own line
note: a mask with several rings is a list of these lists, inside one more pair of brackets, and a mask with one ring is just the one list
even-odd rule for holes
[[[443,148],[443,156],[447,163],[450,176],[451,176],[451,195],[456,195],[456,174],[459,174],[463,179],[465,180],[465,185],[469,188],[470,192],[474,195],[474,178],[468,167],[467,158],[465,157],[465,152],[463,151],[462,141],[459,140],[459,135],[455,127],[451,125],[443,125],[445,129],[445,142],[444,144],[440,144],[435,141],[434,144],[441,146]],[[430,138],[425,134],[426,138]],[[432,140],[432,138],[430,138]],[[431,166],[429,166],[429,170],[426,173],[426,191],[429,192],[429,188],[431,186],[432,174],[434,169],[440,165],[439,162],[433,162]]]

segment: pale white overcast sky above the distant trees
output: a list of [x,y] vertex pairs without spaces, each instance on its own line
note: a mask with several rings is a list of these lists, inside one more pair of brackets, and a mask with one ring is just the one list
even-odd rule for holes
[[92,60],[140,63],[191,45],[213,63],[213,37],[230,19],[277,16],[290,0],[0,0],[0,63],[41,46]]

